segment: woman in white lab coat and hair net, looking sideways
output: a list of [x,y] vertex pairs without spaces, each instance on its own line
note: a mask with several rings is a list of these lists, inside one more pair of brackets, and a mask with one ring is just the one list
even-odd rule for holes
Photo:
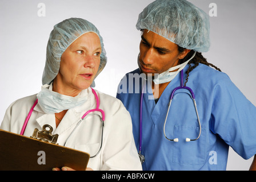
[[[21,98],[9,106],[1,129],[20,134],[31,107],[33,113],[24,134],[30,137],[35,128],[53,127],[58,144],[88,152],[94,156],[101,146],[102,113],[105,113],[102,147],[89,160],[93,170],[141,170],[135,148],[131,118],[122,102],[90,87],[106,64],[103,40],[97,28],[80,18],[66,19],[54,26],[47,44],[46,65],[41,92]],[[78,127],[76,127],[78,126]],[[54,166],[53,166],[54,168]],[[63,169],[70,169],[68,167]]]

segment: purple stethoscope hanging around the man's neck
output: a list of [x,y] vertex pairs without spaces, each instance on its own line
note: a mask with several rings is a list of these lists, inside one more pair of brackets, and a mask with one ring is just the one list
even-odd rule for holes
[[[167,121],[167,117],[168,117],[168,113],[169,113],[169,110],[170,110],[170,106],[171,106],[171,101],[173,100],[173,97],[174,97],[174,93],[179,90],[179,89],[187,89],[189,90],[190,92],[190,96],[194,102],[194,107],[195,107],[195,113],[197,114],[197,121],[198,121],[198,125],[199,125],[199,134],[198,134],[198,137],[195,138],[195,139],[190,139],[190,138],[186,138],[186,142],[190,142],[190,141],[195,141],[195,140],[198,140],[200,135],[201,135],[201,122],[200,122],[200,119],[199,119],[199,115],[198,115],[198,111],[197,111],[197,104],[195,103],[195,95],[194,95],[194,92],[191,88],[189,88],[188,86],[184,86],[183,84],[183,69],[181,71],[181,86],[178,86],[177,88],[175,88],[173,90],[173,92],[171,92],[171,97],[170,97],[170,102],[169,102],[169,105],[168,105],[168,110],[167,110],[167,113],[166,113],[166,117],[165,117],[165,124],[163,125],[163,133],[165,134],[165,125],[166,125],[166,121]],[[141,107],[140,107],[140,118],[139,118],[139,159],[141,159],[141,163],[145,162],[145,156],[143,156],[141,154],[141,146],[142,146],[142,100],[143,100],[143,90],[144,90],[144,87],[145,85],[143,86],[143,89],[142,89],[142,94],[141,94]],[[165,138],[167,140],[170,140],[170,141],[174,141],[174,142],[178,142],[179,139],[178,138],[174,138],[174,139],[169,139],[166,137],[166,134],[165,134]]]

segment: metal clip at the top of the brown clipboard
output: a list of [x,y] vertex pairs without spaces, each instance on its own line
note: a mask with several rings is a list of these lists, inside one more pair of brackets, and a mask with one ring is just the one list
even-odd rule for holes
[[39,131],[37,128],[35,128],[31,138],[42,140],[43,142],[58,144],[57,139],[58,139],[59,135],[51,134],[52,131],[53,131],[53,127],[51,127],[50,125],[43,125],[42,131]]

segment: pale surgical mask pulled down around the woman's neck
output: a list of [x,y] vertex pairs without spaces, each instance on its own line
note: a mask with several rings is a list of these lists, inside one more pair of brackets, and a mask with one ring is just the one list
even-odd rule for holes
[[47,114],[60,113],[63,110],[71,109],[82,105],[87,100],[87,89],[82,90],[78,96],[71,97],[52,91],[51,85],[43,85],[41,92],[37,94],[38,104]]

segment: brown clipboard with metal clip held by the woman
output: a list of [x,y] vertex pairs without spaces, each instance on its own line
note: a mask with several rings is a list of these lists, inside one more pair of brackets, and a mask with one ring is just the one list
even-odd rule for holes
[[59,146],[55,143],[58,135],[51,135],[51,130],[45,130],[46,127],[51,126],[43,126],[42,131],[35,129],[31,137],[0,130],[0,170],[51,171],[54,167],[64,166],[85,170],[90,155]]

